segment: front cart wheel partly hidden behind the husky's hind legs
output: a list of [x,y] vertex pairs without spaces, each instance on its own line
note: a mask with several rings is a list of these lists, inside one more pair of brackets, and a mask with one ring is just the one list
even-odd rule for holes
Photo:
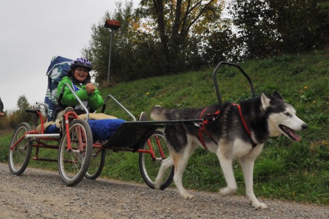
[[[169,151],[162,130],[156,130],[153,133],[153,135],[151,135],[151,137],[149,138],[149,141],[147,141],[144,144],[142,149],[150,150],[149,143],[152,145],[152,148],[154,150],[155,159],[152,159],[151,154],[139,153],[139,169],[145,183],[150,188],[154,189],[154,181],[160,169],[161,162],[163,160],[163,158],[160,155],[160,150],[162,149],[165,157],[169,157]],[[173,177],[174,177],[174,166],[167,169],[165,175],[163,176],[163,181],[160,189],[161,190],[166,189],[173,181]]]

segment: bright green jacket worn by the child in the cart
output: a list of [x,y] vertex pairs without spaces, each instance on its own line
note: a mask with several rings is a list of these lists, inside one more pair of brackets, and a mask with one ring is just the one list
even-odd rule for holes
[[[58,84],[58,90],[57,90],[57,97],[60,97],[61,94],[61,90],[62,87],[64,86],[64,84],[67,83],[70,85],[71,88],[73,88],[72,86],[72,81],[69,77],[64,77],[61,82]],[[93,109],[93,111],[96,111],[96,109],[98,109],[99,107],[101,107],[104,104],[104,100],[101,97],[98,89],[95,89],[94,94],[92,95],[88,95],[87,90],[86,90],[86,85],[80,85],[78,83],[75,84],[77,87],[79,87],[80,89],[76,92],[76,95],[80,98],[81,101],[88,101],[88,106]],[[75,107],[77,106],[79,103],[79,101],[77,100],[77,98],[72,94],[71,90],[65,86],[64,88],[64,93],[63,93],[63,97],[62,97],[62,104],[67,105],[67,106],[71,106],[71,107]]]

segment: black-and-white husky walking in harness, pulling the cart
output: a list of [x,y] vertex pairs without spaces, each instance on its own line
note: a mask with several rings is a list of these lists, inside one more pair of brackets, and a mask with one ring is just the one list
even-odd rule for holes
[[170,156],[163,160],[155,180],[159,189],[166,169],[174,165],[174,182],[182,198],[194,198],[182,186],[182,175],[191,154],[198,147],[215,153],[227,183],[220,189],[220,195],[233,194],[237,190],[232,162],[238,158],[246,184],[246,196],[255,209],[265,209],[253,192],[253,166],[255,158],[261,153],[264,142],[270,137],[281,134],[293,141],[301,138],[295,131],[305,130],[307,125],[296,116],[295,109],[286,103],[278,92],[267,97],[242,101],[240,105],[224,103],[207,108],[168,109],[155,106],[151,118],[163,120],[197,120],[203,122],[169,123],[165,126],[165,137]]

